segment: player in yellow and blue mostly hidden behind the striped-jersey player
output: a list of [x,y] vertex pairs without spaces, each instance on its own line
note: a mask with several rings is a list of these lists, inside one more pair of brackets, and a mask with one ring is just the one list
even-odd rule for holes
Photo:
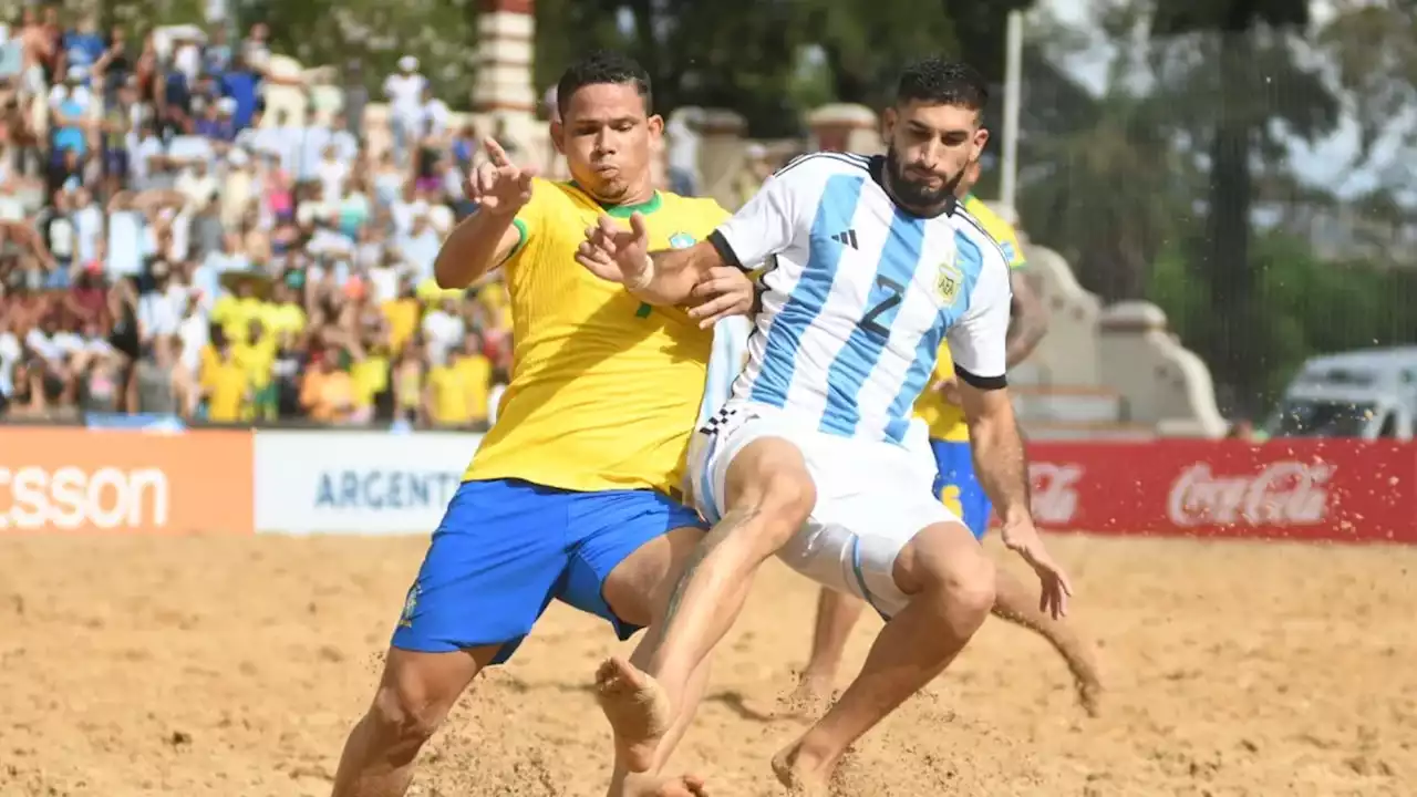
[[[1026,359],[1047,332],[1047,311],[1033,292],[1023,268],[1023,247],[1013,225],[971,193],[979,180],[979,162],[973,162],[959,180],[956,194],[965,214],[998,241],[1009,258],[1010,288],[1013,289],[1012,319],[1007,339],[1007,366],[1013,367]],[[958,515],[975,539],[983,539],[989,529],[992,506],[979,479],[975,476],[973,457],[969,452],[969,427],[964,408],[959,406],[955,384],[954,360],[949,346],[939,347],[932,387],[921,393],[915,401],[915,414],[930,427],[930,447],[935,452],[939,474],[935,476],[935,494]],[[816,628],[812,634],[812,655],[802,669],[798,691],[791,701],[801,709],[815,709],[832,691],[836,671],[842,664],[846,640],[862,615],[864,604],[845,593],[822,590],[818,596]],[[1098,710],[1101,682],[1091,651],[1074,630],[1063,620],[1056,620],[1039,608],[1036,593],[1015,579],[1007,570],[999,570],[995,577],[993,614],[1030,628],[1043,635],[1067,662],[1077,685],[1078,702],[1090,715]]]

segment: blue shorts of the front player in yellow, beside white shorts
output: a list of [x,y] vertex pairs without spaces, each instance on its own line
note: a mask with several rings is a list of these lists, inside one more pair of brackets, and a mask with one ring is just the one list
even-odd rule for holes
[[502,664],[551,598],[609,620],[628,640],[639,627],[611,611],[601,596],[605,579],[639,546],[684,526],[703,520],[648,489],[463,482],[408,590],[393,645],[422,652],[502,645],[492,659]]

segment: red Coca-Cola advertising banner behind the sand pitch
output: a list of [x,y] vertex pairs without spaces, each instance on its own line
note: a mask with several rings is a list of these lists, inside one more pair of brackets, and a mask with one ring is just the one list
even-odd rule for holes
[[1417,543],[1413,442],[1036,442],[1029,458],[1047,529]]

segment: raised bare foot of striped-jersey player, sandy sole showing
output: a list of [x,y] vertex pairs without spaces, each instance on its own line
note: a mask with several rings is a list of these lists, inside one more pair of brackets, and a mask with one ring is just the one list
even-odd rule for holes
[[665,689],[633,664],[608,658],[595,671],[595,699],[611,720],[615,733],[615,757],[629,771],[655,767],[659,740],[669,730],[669,696]]

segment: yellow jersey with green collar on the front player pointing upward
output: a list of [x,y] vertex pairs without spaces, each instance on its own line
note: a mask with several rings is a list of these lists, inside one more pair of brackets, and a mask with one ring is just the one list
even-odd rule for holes
[[512,381],[465,481],[677,489],[713,330],[699,329],[683,308],[642,303],[574,260],[602,213],[633,211],[645,217],[650,250],[693,245],[728,217],[713,200],[665,191],[639,206],[602,208],[574,183],[536,180],[504,264]]

